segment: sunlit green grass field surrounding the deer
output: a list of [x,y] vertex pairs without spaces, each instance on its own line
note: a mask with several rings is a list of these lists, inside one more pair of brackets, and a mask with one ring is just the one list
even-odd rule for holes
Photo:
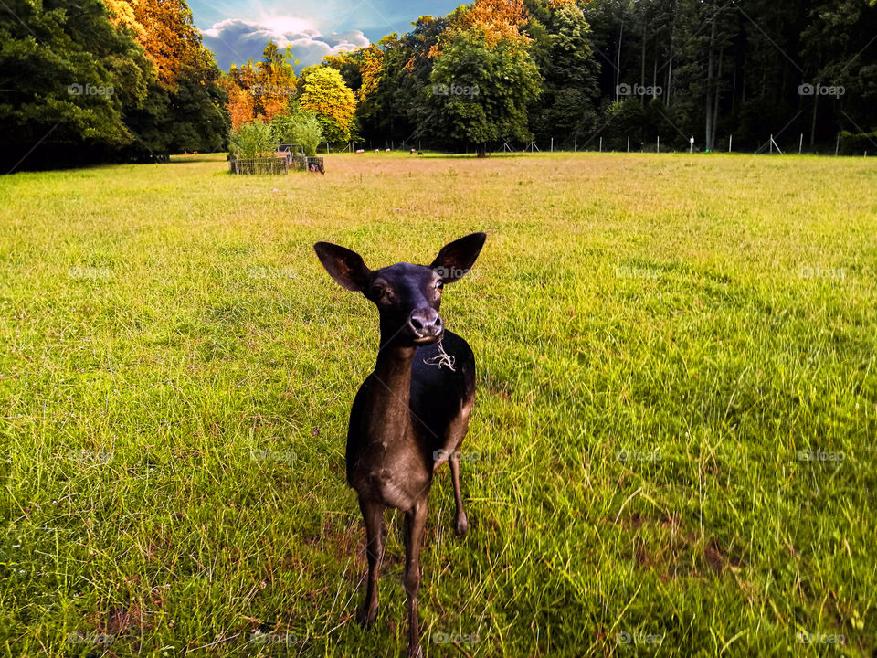
[[373,267],[489,238],[479,394],[430,495],[428,656],[877,653],[877,165],[222,156],[0,180],[0,653],[397,656],[343,476]]

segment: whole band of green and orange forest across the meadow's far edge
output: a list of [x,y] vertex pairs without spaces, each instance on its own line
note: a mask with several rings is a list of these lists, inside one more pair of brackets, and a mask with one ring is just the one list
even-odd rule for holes
[[12,0],[0,161],[164,161],[284,116],[339,148],[873,154],[875,27],[877,0],[475,0],[220,72],[185,0]]

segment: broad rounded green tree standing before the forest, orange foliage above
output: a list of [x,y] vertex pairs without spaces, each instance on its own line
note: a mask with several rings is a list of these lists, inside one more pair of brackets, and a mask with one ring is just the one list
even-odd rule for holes
[[520,42],[501,40],[489,48],[482,33],[460,31],[436,59],[430,81],[424,93],[431,112],[419,133],[474,143],[479,157],[488,142],[533,139],[527,104],[539,95],[540,77]]

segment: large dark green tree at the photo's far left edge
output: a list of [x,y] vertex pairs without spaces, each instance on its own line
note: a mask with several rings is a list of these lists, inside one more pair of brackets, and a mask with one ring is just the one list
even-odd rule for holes
[[4,167],[105,159],[132,142],[125,113],[143,102],[149,62],[100,0],[9,0],[0,21]]

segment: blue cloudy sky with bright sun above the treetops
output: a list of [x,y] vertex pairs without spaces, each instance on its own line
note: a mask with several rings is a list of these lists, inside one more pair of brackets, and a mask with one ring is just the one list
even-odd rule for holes
[[189,0],[195,26],[220,69],[260,59],[273,39],[292,47],[297,71],[326,55],[411,29],[417,16],[443,16],[465,0]]

